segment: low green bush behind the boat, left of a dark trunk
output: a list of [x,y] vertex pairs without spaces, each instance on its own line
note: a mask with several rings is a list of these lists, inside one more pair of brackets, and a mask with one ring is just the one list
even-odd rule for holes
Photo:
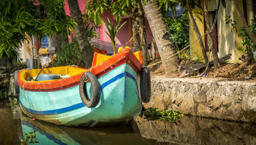
[[56,59],[53,66],[78,65],[81,61],[81,53],[79,52],[79,44],[76,40],[61,45],[61,49],[56,52]]

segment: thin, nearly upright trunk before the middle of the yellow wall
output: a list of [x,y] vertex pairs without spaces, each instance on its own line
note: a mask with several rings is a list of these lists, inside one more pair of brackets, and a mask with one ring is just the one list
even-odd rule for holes
[[[220,3],[220,1],[219,1],[219,3]],[[217,46],[215,44],[214,32],[211,31],[210,20],[209,20],[209,17],[208,17],[208,0],[204,1],[204,14],[205,14],[206,28],[207,28],[207,31],[209,32],[207,34],[208,38],[209,38],[209,39],[207,39],[209,41],[209,43],[208,43],[209,48],[210,48],[209,51],[211,51],[212,57],[214,57],[215,67],[220,68],[220,60],[219,60],[219,57],[218,57],[218,54],[217,54]],[[215,18],[217,18],[217,14],[215,15]],[[212,26],[212,27],[214,27],[214,26]]]

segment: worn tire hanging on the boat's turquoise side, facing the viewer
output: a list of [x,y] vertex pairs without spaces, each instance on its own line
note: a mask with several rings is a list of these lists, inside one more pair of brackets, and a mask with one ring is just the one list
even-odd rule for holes
[[[85,81],[87,81],[87,80],[89,80],[91,82],[91,86],[92,86],[93,93],[92,93],[91,99],[88,96],[88,92],[87,92],[87,88],[86,88]],[[80,93],[80,97],[81,97],[83,104],[86,105],[87,107],[93,108],[98,105],[99,100],[100,100],[100,86],[99,86],[99,82],[98,82],[96,76],[94,76],[94,74],[92,72],[87,71],[80,78],[79,93]]]

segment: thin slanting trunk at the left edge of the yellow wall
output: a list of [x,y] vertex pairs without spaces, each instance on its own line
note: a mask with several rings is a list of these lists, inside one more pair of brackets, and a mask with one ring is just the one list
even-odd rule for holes
[[189,4],[188,0],[186,0],[186,4],[187,4],[187,9],[188,9],[188,15],[189,15],[189,17],[191,18],[191,20],[193,22],[193,26],[195,28],[195,32],[197,34],[197,38],[199,39],[198,41],[199,41],[199,44],[201,46],[201,50],[202,50],[202,53],[203,53],[204,63],[208,64],[208,57],[207,57],[206,51],[204,49],[203,39],[200,38],[201,37],[201,33],[200,33],[200,31],[199,31],[199,29],[197,27],[197,23],[196,23],[196,21],[194,19],[194,16],[192,14],[192,10],[191,10],[191,7],[190,7],[190,4]]

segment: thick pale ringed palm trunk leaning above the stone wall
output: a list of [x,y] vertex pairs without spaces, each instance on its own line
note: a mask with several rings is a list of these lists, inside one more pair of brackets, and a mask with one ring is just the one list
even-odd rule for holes
[[164,23],[163,15],[158,9],[158,4],[148,1],[146,5],[144,5],[142,0],[141,3],[152,34],[156,40],[158,52],[165,69],[165,73],[167,75],[177,73],[180,61],[178,55],[176,54],[176,46],[174,45],[172,38],[169,36],[168,30]]

